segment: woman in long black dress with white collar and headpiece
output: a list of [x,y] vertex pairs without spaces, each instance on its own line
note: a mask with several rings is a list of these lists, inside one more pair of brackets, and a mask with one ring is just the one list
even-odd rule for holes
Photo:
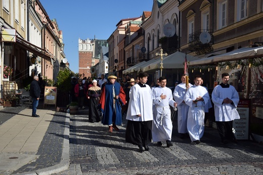
[[89,105],[89,121],[100,122],[101,121],[101,111],[99,105],[100,96],[101,96],[101,88],[97,86],[97,80],[92,81],[92,86],[87,91],[87,97],[90,97],[90,105]]

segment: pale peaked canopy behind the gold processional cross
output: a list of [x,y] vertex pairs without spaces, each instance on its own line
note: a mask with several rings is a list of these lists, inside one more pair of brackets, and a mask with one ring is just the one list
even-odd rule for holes
[[[187,62],[188,61],[191,62],[191,61],[200,59],[198,57],[194,57],[194,56],[182,53],[182,52],[176,52],[166,57],[163,57],[163,60],[162,60],[163,68],[164,69],[184,68],[185,58],[187,58]],[[142,70],[149,71],[149,70],[159,69],[161,66],[160,63],[161,63],[161,59],[158,58],[157,60],[155,60],[155,62],[146,65]]]

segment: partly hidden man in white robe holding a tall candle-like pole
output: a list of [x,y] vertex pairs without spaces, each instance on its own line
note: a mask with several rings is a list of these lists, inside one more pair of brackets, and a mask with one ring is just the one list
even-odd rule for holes
[[189,83],[188,86],[186,86],[186,74],[183,74],[181,77],[182,83],[178,84],[173,92],[173,98],[177,102],[177,108],[178,108],[178,133],[180,135],[181,139],[184,139],[187,136],[187,116],[188,116],[188,109],[189,106],[185,103],[184,97],[186,91],[189,89],[189,87],[192,86],[191,83]]

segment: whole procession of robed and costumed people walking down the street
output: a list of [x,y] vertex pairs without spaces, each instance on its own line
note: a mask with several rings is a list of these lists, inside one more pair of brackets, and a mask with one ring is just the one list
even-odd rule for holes
[[80,110],[85,109],[84,101],[88,101],[89,122],[107,125],[108,133],[118,131],[117,125],[126,119],[125,141],[137,145],[140,153],[149,151],[151,142],[157,146],[165,142],[167,148],[173,146],[174,118],[179,137],[200,144],[211,101],[221,142],[237,142],[232,127],[233,120],[240,118],[236,110],[239,97],[235,87],[228,84],[228,73],[222,74],[222,83],[214,87],[211,99],[200,75],[195,75],[191,84],[187,74],[182,74],[181,83],[176,81],[171,89],[166,87],[166,77],[161,76],[156,84],[152,81],[148,85],[148,76],[139,72],[136,79],[104,74],[97,79],[79,78],[73,84],[75,99]]

